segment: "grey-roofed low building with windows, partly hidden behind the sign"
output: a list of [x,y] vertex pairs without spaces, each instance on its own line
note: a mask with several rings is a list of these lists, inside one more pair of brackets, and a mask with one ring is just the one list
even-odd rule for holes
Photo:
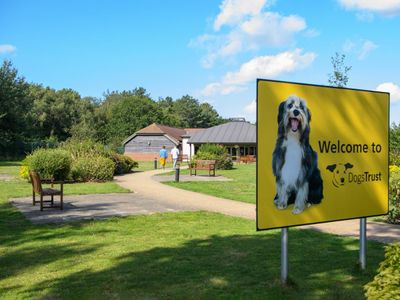
[[229,154],[236,158],[243,155],[257,155],[257,130],[254,124],[244,119],[195,132],[188,140],[195,153],[202,144],[220,144],[228,148]]

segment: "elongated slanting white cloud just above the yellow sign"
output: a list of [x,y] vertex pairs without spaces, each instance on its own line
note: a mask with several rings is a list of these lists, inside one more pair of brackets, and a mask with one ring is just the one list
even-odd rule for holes
[[294,72],[309,66],[315,53],[302,54],[301,49],[286,51],[277,55],[258,56],[242,64],[238,71],[228,72],[220,82],[208,84],[202,95],[228,95],[242,91],[244,85],[256,78],[275,78],[281,74]]

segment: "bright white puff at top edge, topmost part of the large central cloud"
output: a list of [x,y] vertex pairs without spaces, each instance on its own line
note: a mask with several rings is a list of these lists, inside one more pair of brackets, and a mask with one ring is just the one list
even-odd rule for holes
[[218,31],[223,25],[240,22],[244,17],[257,15],[267,0],[224,0],[220,5],[221,12],[214,21],[214,30]]

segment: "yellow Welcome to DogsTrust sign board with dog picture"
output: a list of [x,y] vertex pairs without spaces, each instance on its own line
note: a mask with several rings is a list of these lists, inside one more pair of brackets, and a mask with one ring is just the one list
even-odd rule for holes
[[389,94],[257,81],[257,229],[387,214]]

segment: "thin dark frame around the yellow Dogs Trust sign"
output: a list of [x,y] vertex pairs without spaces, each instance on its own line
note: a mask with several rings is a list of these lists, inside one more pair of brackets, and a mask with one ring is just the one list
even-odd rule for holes
[[[387,183],[387,210],[384,213],[378,213],[378,214],[368,214],[368,215],[358,215],[354,217],[349,217],[349,218],[335,218],[335,219],[329,219],[329,220],[323,220],[323,221],[316,221],[316,222],[307,222],[307,223],[301,223],[301,224],[293,224],[293,225],[287,225],[287,226],[274,226],[274,227],[268,227],[268,228],[261,228],[259,226],[259,217],[260,217],[260,205],[259,205],[259,159],[257,159],[256,162],[256,229],[257,231],[264,231],[264,230],[273,230],[273,229],[279,229],[279,228],[290,228],[290,227],[297,227],[297,226],[304,226],[304,225],[313,225],[313,224],[321,224],[321,223],[329,223],[329,222],[336,222],[336,221],[345,221],[345,220],[354,220],[354,219],[360,219],[360,218],[367,218],[367,217],[376,217],[376,216],[383,216],[387,215],[389,212],[389,153],[390,153],[390,93],[387,92],[380,92],[380,91],[372,91],[372,90],[366,90],[366,89],[356,89],[356,88],[347,88],[347,87],[332,87],[332,86],[327,86],[327,85],[319,85],[319,84],[310,84],[310,83],[301,83],[301,82],[291,82],[291,81],[281,81],[281,80],[271,80],[271,79],[261,79],[257,78],[256,80],[256,142],[257,142],[257,156],[260,156],[260,151],[259,151],[259,83],[260,82],[270,82],[270,83],[283,83],[283,84],[293,84],[293,85],[301,85],[301,86],[308,86],[308,87],[320,87],[320,88],[329,88],[329,89],[337,89],[337,90],[349,90],[349,91],[359,91],[359,92],[370,92],[370,93],[379,93],[379,94],[385,94],[387,96],[387,176],[383,178],[383,181]],[[275,120],[274,120],[275,121]],[[272,176],[272,175],[271,175]]]

